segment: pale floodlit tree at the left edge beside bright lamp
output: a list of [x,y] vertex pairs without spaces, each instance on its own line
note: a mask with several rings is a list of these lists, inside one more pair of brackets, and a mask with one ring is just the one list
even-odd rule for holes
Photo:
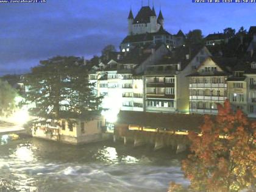
[[8,116],[15,109],[16,91],[7,82],[0,80],[0,116]]

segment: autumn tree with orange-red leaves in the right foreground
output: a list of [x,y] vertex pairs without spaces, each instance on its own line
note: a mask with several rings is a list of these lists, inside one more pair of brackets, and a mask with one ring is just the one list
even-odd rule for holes
[[[191,191],[241,191],[256,183],[256,123],[230,103],[218,106],[215,119],[205,116],[202,137],[191,132],[191,152],[182,162]],[[222,138],[220,138],[222,137]],[[223,138],[224,137],[224,138]]]

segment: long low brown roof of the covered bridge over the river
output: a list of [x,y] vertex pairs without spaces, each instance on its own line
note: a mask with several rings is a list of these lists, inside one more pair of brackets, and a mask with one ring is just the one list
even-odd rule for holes
[[204,115],[120,111],[116,124],[133,124],[167,130],[198,130]]

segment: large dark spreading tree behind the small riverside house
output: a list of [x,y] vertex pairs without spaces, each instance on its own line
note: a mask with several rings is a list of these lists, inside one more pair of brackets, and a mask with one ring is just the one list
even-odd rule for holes
[[29,88],[26,102],[33,116],[45,123],[60,118],[89,120],[99,114],[101,98],[93,94],[87,69],[79,57],[53,57],[43,60],[25,77]]

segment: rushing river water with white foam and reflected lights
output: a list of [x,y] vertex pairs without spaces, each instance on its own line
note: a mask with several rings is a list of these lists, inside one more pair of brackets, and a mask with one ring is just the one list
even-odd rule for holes
[[189,184],[180,170],[184,157],[112,141],[73,146],[2,137],[0,191],[167,191],[171,180]]

